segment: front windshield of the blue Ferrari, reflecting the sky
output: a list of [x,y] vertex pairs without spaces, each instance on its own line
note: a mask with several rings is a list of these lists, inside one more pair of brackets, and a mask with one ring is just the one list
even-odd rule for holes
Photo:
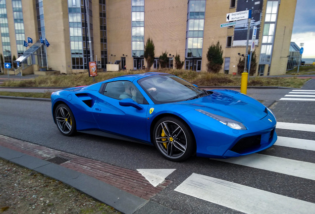
[[138,81],[156,104],[191,100],[208,95],[202,89],[173,75],[154,75]]

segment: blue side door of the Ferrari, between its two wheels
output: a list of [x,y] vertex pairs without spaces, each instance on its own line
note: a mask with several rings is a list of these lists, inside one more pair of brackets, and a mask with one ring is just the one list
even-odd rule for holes
[[[148,141],[146,115],[149,105],[144,104],[146,102],[139,101],[138,106],[142,109],[119,105],[119,101],[122,100],[119,97],[124,93],[124,88],[121,87],[124,87],[126,82],[128,81],[116,81],[106,84],[104,93],[99,96],[93,108],[93,116],[102,131]],[[130,84],[130,82],[128,83]],[[139,93],[138,90],[137,96]],[[143,98],[141,93],[139,97]]]

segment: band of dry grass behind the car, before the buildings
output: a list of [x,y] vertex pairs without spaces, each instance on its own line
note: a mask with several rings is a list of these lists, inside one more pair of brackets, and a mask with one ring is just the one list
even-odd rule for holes
[[[160,69],[160,70],[136,70],[136,71],[117,71],[117,72],[99,72],[95,77],[96,82],[101,82],[116,76],[145,73],[149,71],[157,71],[170,73],[187,80],[198,86],[240,86],[241,77],[227,74],[213,74],[209,72],[196,72],[191,70],[178,69]],[[282,86],[301,88],[308,79],[299,79],[296,77],[250,77],[248,86]],[[1,86],[11,87],[75,87],[93,84],[93,78],[88,73],[55,75],[55,76],[39,76],[31,80],[22,81],[6,81]]]

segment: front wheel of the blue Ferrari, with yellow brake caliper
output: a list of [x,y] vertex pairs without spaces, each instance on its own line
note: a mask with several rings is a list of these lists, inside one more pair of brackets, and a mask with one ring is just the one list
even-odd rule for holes
[[152,136],[157,150],[168,160],[186,160],[196,150],[195,138],[189,126],[175,117],[159,119]]

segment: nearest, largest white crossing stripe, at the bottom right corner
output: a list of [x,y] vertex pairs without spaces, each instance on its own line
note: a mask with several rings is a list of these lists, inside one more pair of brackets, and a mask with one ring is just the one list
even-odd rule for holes
[[175,191],[246,214],[311,214],[315,204],[193,173]]

